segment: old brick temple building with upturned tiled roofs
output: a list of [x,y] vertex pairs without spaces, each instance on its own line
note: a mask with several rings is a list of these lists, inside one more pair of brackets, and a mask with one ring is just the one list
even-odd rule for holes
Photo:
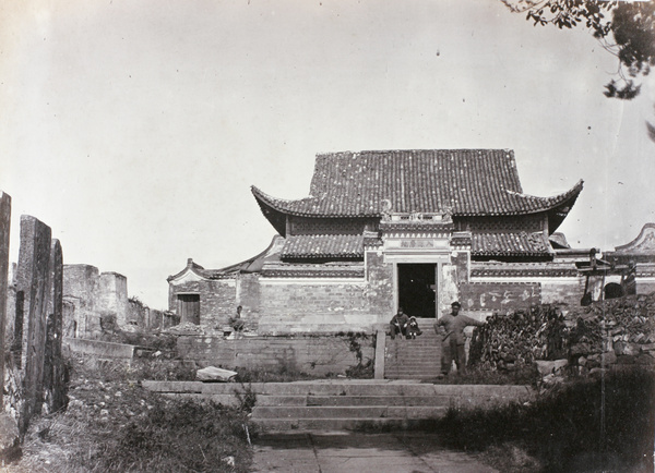
[[430,318],[454,300],[479,318],[577,305],[588,255],[556,230],[582,185],[525,194],[508,149],[320,154],[308,197],[252,187],[271,245],[222,269],[189,259],[168,278],[169,308],[219,328],[241,305],[250,329],[288,333],[370,331],[400,306]]

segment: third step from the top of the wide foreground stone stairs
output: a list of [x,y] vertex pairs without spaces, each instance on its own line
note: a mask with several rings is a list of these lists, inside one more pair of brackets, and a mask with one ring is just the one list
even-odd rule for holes
[[260,419],[433,419],[445,405],[257,405],[252,420]]

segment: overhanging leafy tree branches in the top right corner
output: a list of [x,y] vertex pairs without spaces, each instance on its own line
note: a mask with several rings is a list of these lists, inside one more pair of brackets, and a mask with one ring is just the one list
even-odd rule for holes
[[[655,65],[655,1],[618,2],[603,0],[502,0],[513,12],[527,12],[535,26],[560,29],[584,26],[602,46],[619,59],[617,75],[605,95],[630,100],[640,93],[639,76]],[[610,17],[611,16],[611,17]]]

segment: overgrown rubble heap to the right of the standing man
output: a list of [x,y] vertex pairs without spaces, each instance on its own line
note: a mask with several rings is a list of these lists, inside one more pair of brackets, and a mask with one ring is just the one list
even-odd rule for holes
[[614,363],[655,365],[655,293],[572,311],[544,304],[495,314],[471,341],[471,364],[490,369],[562,359],[579,372]]

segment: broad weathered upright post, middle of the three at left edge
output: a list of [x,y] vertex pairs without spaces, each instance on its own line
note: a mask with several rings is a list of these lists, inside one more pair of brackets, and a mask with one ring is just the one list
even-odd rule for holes
[[[16,295],[23,294],[20,360],[24,369],[25,403],[19,422],[21,435],[27,430],[31,417],[40,412],[43,402],[47,301],[50,293],[50,240],[51,230],[47,225],[34,217],[21,216],[16,278]],[[19,313],[17,304],[16,312]]]

